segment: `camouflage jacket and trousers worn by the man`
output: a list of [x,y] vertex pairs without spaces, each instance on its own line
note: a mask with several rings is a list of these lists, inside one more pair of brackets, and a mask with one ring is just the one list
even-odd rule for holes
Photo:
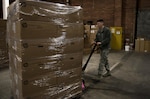
[[103,29],[98,30],[96,34],[96,42],[101,42],[100,44],[100,64],[98,69],[98,74],[103,74],[103,69],[110,71],[109,63],[108,63],[108,54],[110,48],[110,40],[111,40],[111,32],[108,27],[103,27]]

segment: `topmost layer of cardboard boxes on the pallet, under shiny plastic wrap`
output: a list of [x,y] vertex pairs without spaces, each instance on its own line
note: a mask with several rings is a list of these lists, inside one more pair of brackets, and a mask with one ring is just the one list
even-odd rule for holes
[[[16,8],[20,10],[19,12],[23,13],[16,12],[18,11]],[[66,9],[69,9],[69,11],[66,11]],[[42,1],[16,1],[9,6],[9,14],[12,20],[19,18],[33,21],[58,22],[59,20],[59,22],[82,23],[82,9],[80,7],[60,6],[55,3],[45,3]]]

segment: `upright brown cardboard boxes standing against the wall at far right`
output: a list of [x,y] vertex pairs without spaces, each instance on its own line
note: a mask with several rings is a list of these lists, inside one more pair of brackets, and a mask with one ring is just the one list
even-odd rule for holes
[[150,40],[145,38],[137,38],[135,40],[136,52],[150,52]]

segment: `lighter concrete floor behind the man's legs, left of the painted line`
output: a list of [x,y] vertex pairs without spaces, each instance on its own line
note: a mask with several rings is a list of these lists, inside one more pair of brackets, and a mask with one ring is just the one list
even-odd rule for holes
[[[110,69],[113,69],[114,66],[116,64],[118,64],[125,55],[127,55],[127,52],[124,52],[124,51],[110,51],[110,54],[108,56]],[[87,61],[88,56],[89,55],[85,55],[83,57],[83,65]],[[99,61],[100,61],[100,54],[99,53],[94,53],[92,55],[88,65],[87,65],[85,73],[86,74],[97,75]]]

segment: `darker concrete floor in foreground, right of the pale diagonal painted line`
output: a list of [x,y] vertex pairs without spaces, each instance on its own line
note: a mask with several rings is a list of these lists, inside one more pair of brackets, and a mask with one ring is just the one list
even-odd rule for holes
[[128,53],[112,70],[112,76],[94,81],[83,99],[150,99],[150,53]]

